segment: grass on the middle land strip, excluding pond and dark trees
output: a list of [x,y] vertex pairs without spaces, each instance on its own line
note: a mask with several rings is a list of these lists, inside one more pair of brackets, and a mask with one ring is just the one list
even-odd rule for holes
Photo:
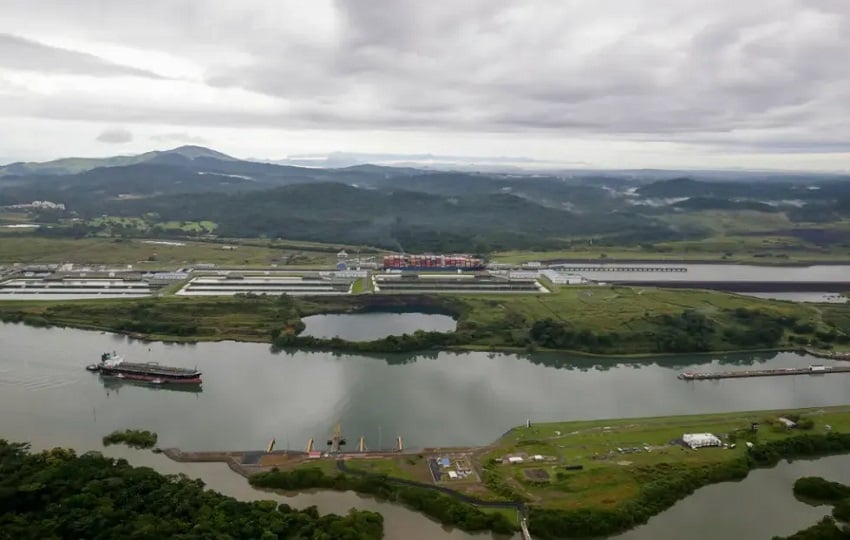
[[[554,321],[575,332],[609,336],[601,346],[571,348],[595,354],[639,355],[664,352],[655,336],[668,331],[662,315],[680,317],[685,311],[704,316],[715,329],[707,349],[731,351],[764,349],[737,346],[726,340],[725,330],[746,330],[735,310],[744,308],[773,318],[793,318],[808,329],[794,334],[790,327],[782,339],[767,348],[799,348],[790,340],[801,335],[850,330],[850,306],[800,304],[714,291],[657,289],[652,287],[561,287],[539,295],[374,295],[288,297],[286,307],[277,297],[175,297],[79,301],[3,301],[0,317],[98,330],[131,331],[151,339],[269,341],[275,328],[293,318],[319,313],[347,313],[371,309],[440,309],[458,320],[454,346],[493,350],[525,348],[537,322]],[[546,324],[551,324],[547,322]],[[148,330],[146,330],[148,329]],[[542,343],[542,342],[541,342]],[[345,347],[345,344],[341,344]],[[541,349],[549,347],[540,344]],[[590,348],[588,348],[590,347]],[[556,347],[549,347],[556,348]],[[360,349],[358,349],[360,350]],[[672,351],[667,351],[672,352]]]

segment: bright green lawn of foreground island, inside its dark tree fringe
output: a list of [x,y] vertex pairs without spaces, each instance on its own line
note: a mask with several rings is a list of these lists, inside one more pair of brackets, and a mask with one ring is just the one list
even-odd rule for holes
[[[781,417],[794,418],[801,426],[811,423],[803,428],[788,428],[779,421]],[[753,424],[758,425],[757,429],[752,429]],[[604,511],[638,497],[642,486],[658,480],[664,471],[681,477],[690,470],[732,466],[742,463],[748,452],[747,443],[758,446],[827,432],[850,433],[850,405],[532,424],[516,427],[484,447],[456,449],[471,458],[479,477],[490,475],[490,480],[470,477],[440,485],[482,500],[522,499],[543,509]],[[721,446],[688,448],[681,441],[685,433],[711,433],[721,440]],[[351,457],[346,466],[433,484],[428,458],[441,455],[444,454]],[[535,456],[541,459],[536,460]],[[523,461],[510,463],[508,457],[521,457]],[[311,467],[315,463],[306,461],[295,466]],[[326,472],[336,474],[330,468]],[[703,482],[711,483],[711,478]],[[505,489],[511,494],[507,495]],[[513,510],[500,512],[506,517],[515,514]]]

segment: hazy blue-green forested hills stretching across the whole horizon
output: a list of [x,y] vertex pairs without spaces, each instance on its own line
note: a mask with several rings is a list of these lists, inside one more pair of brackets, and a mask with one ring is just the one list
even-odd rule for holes
[[[227,237],[478,253],[565,249],[588,238],[597,246],[623,246],[709,235],[711,224],[679,219],[690,212],[781,215],[791,228],[850,217],[850,182],[840,181],[847,179],[842,176],[748,182],[670,175],[319,169],[187,147],[0,167],[0,206],[64,204],[64,211],[36,216],[51,225],[40,234],[55,236],[173,236],[186,232],[157,223],[207,221],[216,224],[215,234]],[[150,227],[115,230],[114,224],[96,222],[104,214],[144,219]],[[832,241],[846,244],[850,238],[839,231]]]

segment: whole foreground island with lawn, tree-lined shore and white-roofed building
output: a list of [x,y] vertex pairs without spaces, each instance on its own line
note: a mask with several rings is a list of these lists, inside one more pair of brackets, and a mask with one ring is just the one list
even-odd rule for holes
[[416,453],[278,451],[243,464],[239,453],[165,451],[226,461],[255,487],[353,490],[469,531],[507,532],[519,514],[542,539],[617,534],[700,487],[847,452],[850,406],[531,424],[485,447]]

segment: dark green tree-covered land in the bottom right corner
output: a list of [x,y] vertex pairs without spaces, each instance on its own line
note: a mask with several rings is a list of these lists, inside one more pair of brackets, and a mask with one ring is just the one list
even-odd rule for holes
[[773,540],[848,540],[850,539],[850,486],[817,476],[805,476],[794,482],[794,495],[814,505],[833,505],[832,516],[787,538]]

